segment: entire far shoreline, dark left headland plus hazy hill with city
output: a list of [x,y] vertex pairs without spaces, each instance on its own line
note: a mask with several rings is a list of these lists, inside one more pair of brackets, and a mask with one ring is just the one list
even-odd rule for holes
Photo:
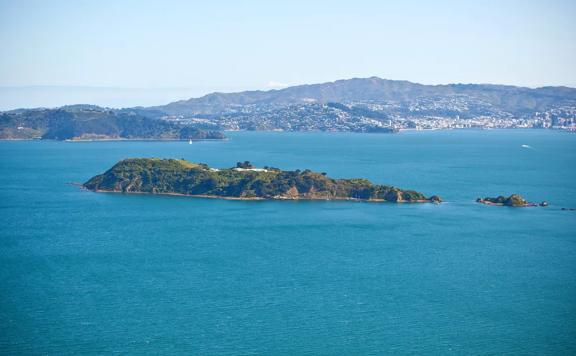
[[576,89],[422,85],[377,77],[212,93],[163,106],[69,105],[0,113],[0,139],[222,138],[215,130],[392,133],[403,129],[576,131]]

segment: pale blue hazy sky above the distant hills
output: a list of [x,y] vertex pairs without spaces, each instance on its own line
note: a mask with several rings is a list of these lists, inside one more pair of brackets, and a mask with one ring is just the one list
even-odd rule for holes
[[150,97],[374,75],[576,86],[575,19],[571,0],[0,0],[0,86]]

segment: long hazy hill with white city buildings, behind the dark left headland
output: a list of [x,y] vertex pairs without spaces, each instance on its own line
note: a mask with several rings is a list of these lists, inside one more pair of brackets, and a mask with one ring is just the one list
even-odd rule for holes
[[223,130],[394,132],[576,129],[576,89],[422,85],[378,77],[271,91],[212,93],[147,108],[164,120]]

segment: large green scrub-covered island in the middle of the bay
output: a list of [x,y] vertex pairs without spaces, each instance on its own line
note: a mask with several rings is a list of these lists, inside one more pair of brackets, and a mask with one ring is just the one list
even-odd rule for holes
[[311,170],[282,171],[238,162],[227,169],[184,159],[131,158],[82,185],[94,192],[185,195],[239,200],[360,200],[440,203],[413,190],[372,184],[367,179],[333,179]]

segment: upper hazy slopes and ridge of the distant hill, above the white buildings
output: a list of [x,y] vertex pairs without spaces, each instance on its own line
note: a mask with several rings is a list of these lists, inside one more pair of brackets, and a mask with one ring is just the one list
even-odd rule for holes
[[281,90],[212,93],[153,108],[171,115],[198,115],[218,114],[243,106],[375,102],[396,103],[401,110],[423,99],[446,98],[465,98],[470,104],[490,107],[492,111],[522,115],[527,112],[575,105],[576,89],[567,87],[531,89],[491,84],[422,85],[371,77],[299,85]]

